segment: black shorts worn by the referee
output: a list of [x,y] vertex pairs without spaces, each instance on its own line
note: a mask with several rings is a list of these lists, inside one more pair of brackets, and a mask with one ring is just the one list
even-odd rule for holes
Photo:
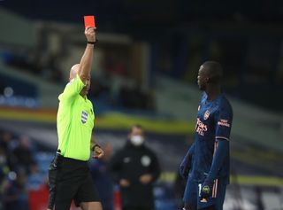
[[70,209],[72,200],[76,206],[81,202],[100,202],[95,184],[88,169],[88,161],[62,157],[57,167],[50,167],[50,209]]

